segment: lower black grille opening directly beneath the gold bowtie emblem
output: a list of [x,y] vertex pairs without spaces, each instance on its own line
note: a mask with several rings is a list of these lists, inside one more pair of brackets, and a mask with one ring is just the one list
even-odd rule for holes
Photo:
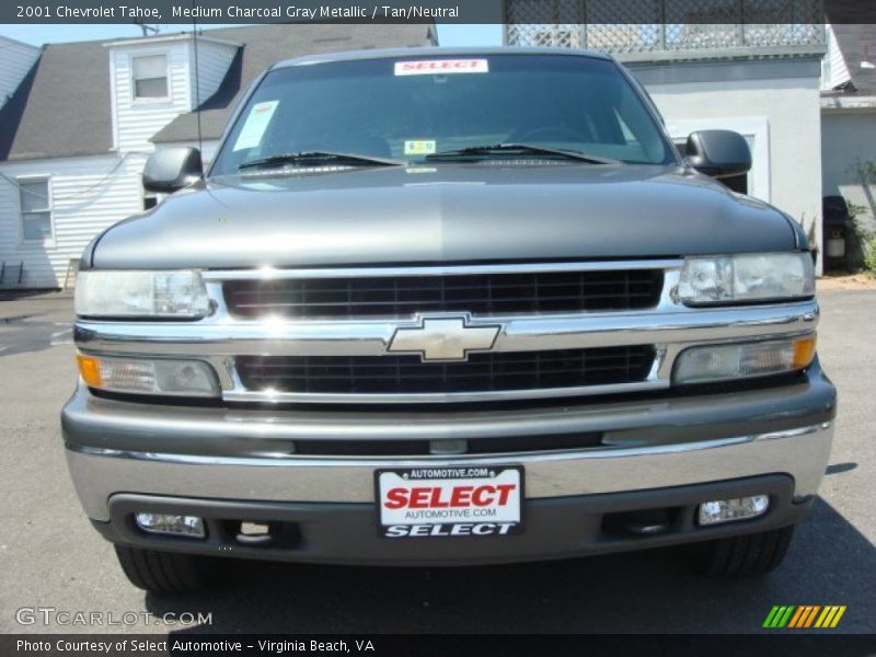
[[415,355],[238,356],[247,390],[387,394],[488,392],[634,383],[645,380],[654,347],[598,347],[472,354],[466,361],[423,362]]

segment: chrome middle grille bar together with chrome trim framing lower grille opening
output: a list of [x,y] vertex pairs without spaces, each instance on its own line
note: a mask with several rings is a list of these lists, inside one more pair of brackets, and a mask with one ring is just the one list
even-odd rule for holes
[[[434,316],[434,315],[430,315]],[[644,381],[610,385],[500,390],[486,392],[330,394],[246,390],[234,368],[235,356],[374,356],[388,354],[396,328],[413,321],[262,322],[210,324],[96,324],[79,321],[76,336],[88,354],[191,357],[209,361],[228,402],[266,403],[429,403],[548,399],[661,390],[671,383],[675,358],[689,346],[769,339],[815,331],[815,301],[746,309],[676,310],[650,313],[590,313],[511,319],[496,338],[495,351],[528,351],[654,344],[655,360]],[[502,318],[472,319],[497,322]]]

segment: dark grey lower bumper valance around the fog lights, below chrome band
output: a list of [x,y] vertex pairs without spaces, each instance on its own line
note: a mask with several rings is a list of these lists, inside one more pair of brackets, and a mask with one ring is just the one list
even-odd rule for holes
[[[372,504],[223,502],[149,495],[114,495],[111,521],[93,522],[104,538],[150,550],[210,556],[350,565],[474,565],[541,561],[660,548],[765,531],[797,522],[812,498],[794,502],[788,475],[766,475],[650,491],[529,499],[522,533],[508,537],[385,539],[377,532]],[[770,496],[769,511],[744,522],[698,527],[696,507],[711,499]],[[656,533],[630,526],[633,514],[667,511]],[[146,534],[134,525],[137,511],[197,515],[204,540]],[[241,520],[272,527],[264,542],[241,542]]]

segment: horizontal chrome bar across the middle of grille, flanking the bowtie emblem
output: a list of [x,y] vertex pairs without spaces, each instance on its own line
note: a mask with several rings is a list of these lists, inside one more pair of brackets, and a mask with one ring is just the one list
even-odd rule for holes
[[[476,316],[503,324],[492,351],[538,351],[660,343],[703,343],[811,331],[815,301],[733,309],[592,312],[534,318]],[[429,318],[439,316],[429,314]],[[459,316],[459,313],[450,316]],[[76,322],[83,350],[155,356],[383,356],[396,328],[419,319],[372,321]],[[391,353],[389,353],[391,354]]]

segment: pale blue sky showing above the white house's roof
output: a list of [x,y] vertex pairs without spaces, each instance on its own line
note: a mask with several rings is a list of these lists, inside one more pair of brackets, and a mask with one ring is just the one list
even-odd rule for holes
[[[0,0],[2,1],[2,0]],[[240,24],[209,25],[210,27],[235,27]],[[191,31],[192,23],[161,25],[162,33]],[[111,41],[141,36],[137,25],[12,25],[0,24],[0,35],[26,44],[43,44],[72,41]],[[442,46],[497,46],[502,44],[502,25],[447,25],[438,24],[438,41]]]

